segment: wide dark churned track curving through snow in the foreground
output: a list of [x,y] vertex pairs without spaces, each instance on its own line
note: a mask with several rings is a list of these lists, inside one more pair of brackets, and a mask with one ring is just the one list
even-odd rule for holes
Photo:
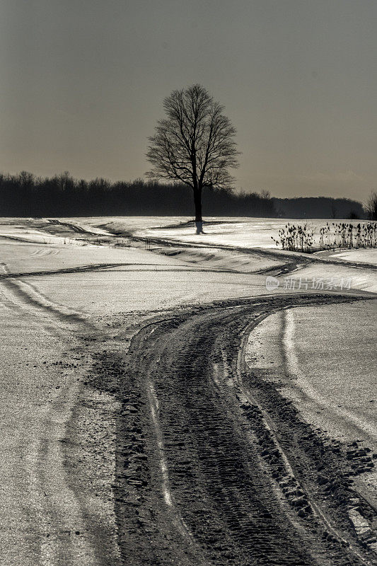
[[[95,385],[119,396],[118,541],[124,564],[372,565],[376,513],[352,490],[368,454],[321,438],[250,373],[250,329],[295,295],[184,311],[142,328],[125,357],[99,355]],[[351,456],[349,456],[351,455]]]

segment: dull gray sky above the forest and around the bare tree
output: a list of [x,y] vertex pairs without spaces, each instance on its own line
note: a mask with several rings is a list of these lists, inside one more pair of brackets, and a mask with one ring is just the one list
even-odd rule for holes
[[237,186],[377,187],[376,0],[1,0],[0,170],[132,180],[175,88],[226,106]]

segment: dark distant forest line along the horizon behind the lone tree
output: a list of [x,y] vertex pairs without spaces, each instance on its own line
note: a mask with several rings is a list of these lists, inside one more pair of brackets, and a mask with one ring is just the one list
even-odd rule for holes
[[[0,173],[0,216],[191,216],[192,190],[186,185],[145,182],[86,181],[69,173],[51,178]],[[204,216],[284,218],[364,218],[361,202],[308,197],[278,199],[269,192],[235,192],[206,188]]]

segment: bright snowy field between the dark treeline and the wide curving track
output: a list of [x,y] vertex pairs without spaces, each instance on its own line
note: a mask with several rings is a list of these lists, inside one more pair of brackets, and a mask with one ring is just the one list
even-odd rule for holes
[[[283,265],[279,252],[265,257],[246,250],[236,252],[231,247],[271,248],[271,235],[277,233],[286,221],[221,219],[219,224],[208,224],[204,236],[192,234],[192,226],[168,227],[186,220],[182,217],[62,219],[66,225],[33,219],[0,220],[0,238],[4,236],[1,241],[2,270],[25,274],[18,285],[28,286],[30,294],[91,316],[135,310],[158,311],[180,304],[266,294],[266,275],[258,272]],[[313,222],[318,226],[323,224],[323,221]],[[191,243],[191,246],[163,249],[163,253],[158,249],[160,253],[152,253],[142,246],[100,245],[95,240],[93,242],[93,238],[89,238],[88,243],[85,234],[71,231],[69,224],[82,226],[100,236],[106,236],[111,229],[129,232],[132,236],[168,239],[177,245]],[[197,247],[198,243],[206,246]],[[214,246],[209,247],[211,244]],[[218,245],[228,249],[216,248]],[[300,265],[300,254],[289,255]],[[335,287],[327,289],[329,292],[339,290],[337,281],[340,279],[350,280],[351,289],[377,291],[376,272],[354,265],[356,262],[375,262],[376,250],[327,253],[326,258],[343,262],[342,265],[312,262],[301,265],[301,269],[291,274],[276,274],[279,287],[274,292],[312,291],[311,282],[318,279],[325,283],[335,282]],[[344,260],[353,265],[347,267]],[[40,275],[33,275],[35,272]],[[48,277],[47,272],[51,273]],[[287,284],[287,279],[293,279],[294,284]],[[326,290],[326,287],[322,289]],[[374,305],[373,301],[371,304]]]

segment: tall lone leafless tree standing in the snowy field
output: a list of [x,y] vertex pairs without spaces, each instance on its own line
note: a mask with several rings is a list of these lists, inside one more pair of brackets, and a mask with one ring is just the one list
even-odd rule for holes
[[224,116],[224,107],[195,84],[173,91],[163,101],[164,120],[149,138],[146,154],[152,164],[149,178],[180,181],[192,188],[197,233],[202,233],[202,190],[229,187],[229,168],[238,166],[236,129]]

